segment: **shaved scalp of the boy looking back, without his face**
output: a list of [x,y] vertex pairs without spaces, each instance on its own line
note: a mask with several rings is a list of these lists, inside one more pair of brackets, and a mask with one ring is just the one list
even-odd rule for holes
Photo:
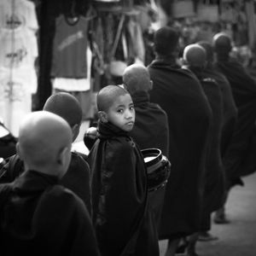
[[96,102],[98,111],[108,111],[118,96],[129,94],[127,90],[117,85],[103,87],[97,94]]

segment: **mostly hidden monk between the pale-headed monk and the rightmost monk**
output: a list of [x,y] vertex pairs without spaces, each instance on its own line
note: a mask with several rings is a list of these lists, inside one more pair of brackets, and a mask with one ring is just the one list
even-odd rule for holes
[[[230,82],[223,73],[221,73],[214,65],[213,65],[213,47],[212,44],[207,41],[198,42],[207,53],[207,66],[202,71],[204,77],[209,77],[214,79],[220,86],[223,96],[224,102],[224,118],[223,118],[223,126],[221,131],[221,157],[224,160],[224,156],[227,152],[227,149],[230,144],[231,137],[236,127],[237,120],[237,108],[236,103],[232,94]],[[226,176],[226,170],[224,168],[224,173]],[[225,192],[225,197],[227,196],[228,191]],[[225,200],[224,200],[225,201]],[[226,218],[224,213],[224,206],[220,207],[218,211],[215,212],[214,222],[216,224],[228,224],[230,221]]]

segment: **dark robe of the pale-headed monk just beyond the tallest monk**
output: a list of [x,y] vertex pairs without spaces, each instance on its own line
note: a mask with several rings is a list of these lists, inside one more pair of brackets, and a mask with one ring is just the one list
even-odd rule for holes
[[221,159],[221,132],[224,116],[224,102],[220,86],[208,78],[201,69],[192,68],[201,82],[212,109],[212,122],[207,145],[203,215],[201,230],[211,229],[211,213],[224,203],[224,166]]

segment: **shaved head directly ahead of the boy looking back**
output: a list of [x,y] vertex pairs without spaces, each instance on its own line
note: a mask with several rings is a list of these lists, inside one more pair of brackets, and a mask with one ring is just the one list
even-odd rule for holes
[[153,87],[148,69],[141,64],[132,64],[125,68],[123,83],[131,96],[137,91],[148,92],[148,90],[152,90]]

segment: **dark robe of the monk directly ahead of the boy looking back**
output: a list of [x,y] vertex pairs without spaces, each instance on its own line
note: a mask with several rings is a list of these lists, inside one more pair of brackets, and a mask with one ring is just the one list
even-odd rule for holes
[[[131,137],[141,149],[159,148],[166,157],[169,155],[169,128],[166,112],[158,104],[149,102],[145,91],[131,95],[136,112],[135,125]],[[165,198],[166,187],[149,192],[150,207],[154,212],[156,224],[160,226],[160,215]]]

